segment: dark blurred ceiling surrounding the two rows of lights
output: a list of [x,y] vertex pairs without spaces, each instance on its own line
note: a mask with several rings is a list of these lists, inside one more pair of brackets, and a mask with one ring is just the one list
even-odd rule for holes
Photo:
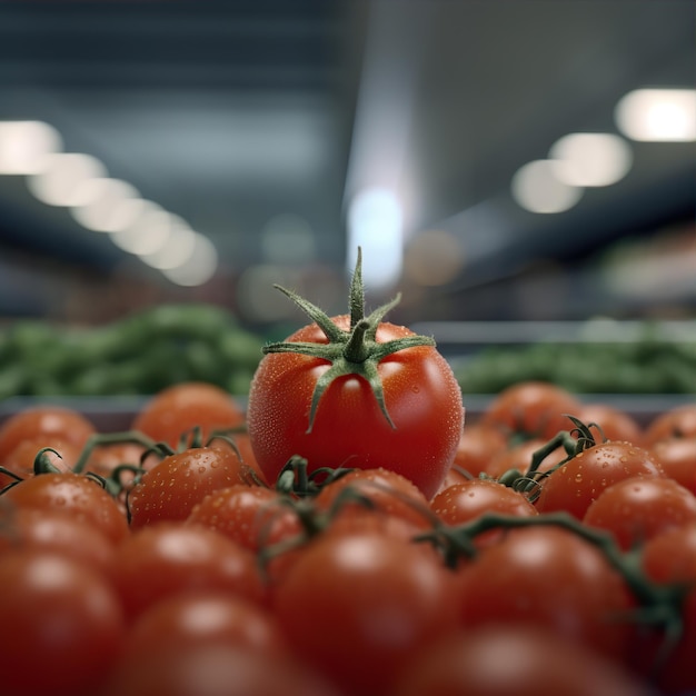
[[[695,8],[2,2],[0,120],[51,123],[67,151],[99,158],[207,235],[235,272],[264,260],[260,230],[281,213],[308,222],[318,260],[342,266],[346,202],[391,188],[407,235],[460,236],[474,267],[457,287],[693,216],[694,143],[632,143],[629,175],[561,215],[523,210],[509,183],[568,132],[617,132],[626,92],[696,84]],[[0,177],[3,246],[103,268],[122,256],[37,203],[20,177]]]

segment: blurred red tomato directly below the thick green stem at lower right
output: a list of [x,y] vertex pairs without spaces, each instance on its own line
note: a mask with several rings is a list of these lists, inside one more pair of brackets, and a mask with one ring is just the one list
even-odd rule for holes
[[604,554],[571,530],[513,529],[460,570],[461,624],[537,626],[626,658],[635,600]]

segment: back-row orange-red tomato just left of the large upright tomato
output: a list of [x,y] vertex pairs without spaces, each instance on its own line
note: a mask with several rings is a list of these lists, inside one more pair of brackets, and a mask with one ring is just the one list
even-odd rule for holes
[[133,418],[131,428],[176,448],[196,426],[206,441],[213,430],[236,428],[243,422],[243,409],[225,389],[185,381],[156,394]]

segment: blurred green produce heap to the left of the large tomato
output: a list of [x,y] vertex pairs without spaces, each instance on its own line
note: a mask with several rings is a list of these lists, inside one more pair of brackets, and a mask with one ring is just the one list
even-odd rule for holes
[[161,305],[89,328],[23,319],[0,334],[0,399],[149,395],[186,380],[246,395],[262,344],[207,304]]

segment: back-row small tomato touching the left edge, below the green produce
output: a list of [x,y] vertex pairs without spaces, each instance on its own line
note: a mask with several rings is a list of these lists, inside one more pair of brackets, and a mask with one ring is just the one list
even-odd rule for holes
[[0,465],[27,439],[41,438],[47,447],[56,441],[84,447],[96,434],[95,425],[80,412],[61,406],[39,406],[18,411],[0,426]]

